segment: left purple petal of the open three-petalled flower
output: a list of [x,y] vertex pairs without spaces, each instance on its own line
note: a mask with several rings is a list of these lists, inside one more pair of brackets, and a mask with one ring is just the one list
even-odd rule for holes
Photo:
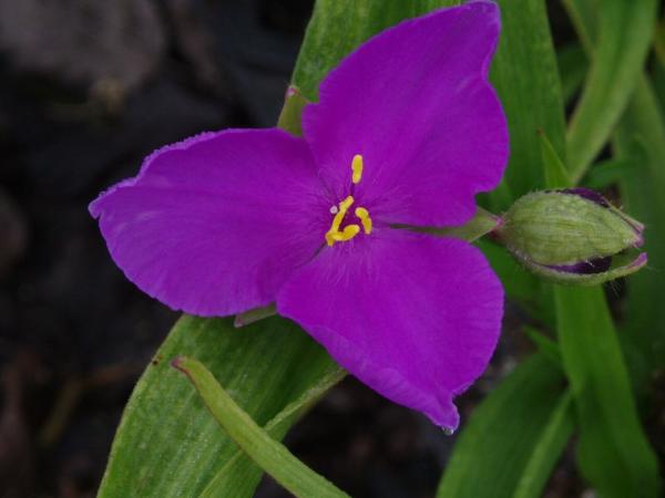
[[90,211],[144,292],[188,313],[225,315],[273,302],[315,255],[329,207],[319,206],[320,191],[301,139],[234,129],[155,152]]

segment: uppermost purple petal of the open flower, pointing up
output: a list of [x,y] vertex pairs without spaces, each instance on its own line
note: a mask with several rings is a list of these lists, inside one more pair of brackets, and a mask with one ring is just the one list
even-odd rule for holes
[[355,154],[356,197],[372,216],[416,226],[461,225],[508,158],[507,123],[488,83],[499,11],[490,1],[441,9],[362,44],[305,108],[321,177],[344,197]]

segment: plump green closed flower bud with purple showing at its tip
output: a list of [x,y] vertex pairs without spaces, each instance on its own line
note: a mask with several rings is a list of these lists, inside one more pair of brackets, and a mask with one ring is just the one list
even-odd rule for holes
[[562,283],[595,284],[633,273],[646,253],[644,226],[585,188],[529,194],[504,214],[495,237],[531,271]]

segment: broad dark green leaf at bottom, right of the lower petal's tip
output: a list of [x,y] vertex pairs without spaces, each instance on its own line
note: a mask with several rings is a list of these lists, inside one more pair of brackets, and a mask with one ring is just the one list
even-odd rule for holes
[[508,498],[519,486],[539,496],[572,428],[562,397],[554,363],[541,354],[521,363],[473,412],[437,497]]

